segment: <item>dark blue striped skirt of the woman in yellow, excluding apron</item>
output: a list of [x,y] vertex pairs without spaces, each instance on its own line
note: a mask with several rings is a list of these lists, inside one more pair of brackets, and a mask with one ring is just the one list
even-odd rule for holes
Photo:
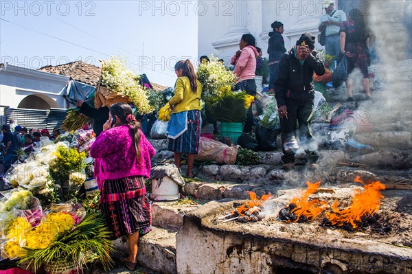
[[187,130],[176,139],[169,138],[168,150],[198,154],[199,142],[201,140],[201,125],[201,111],[187,111]]

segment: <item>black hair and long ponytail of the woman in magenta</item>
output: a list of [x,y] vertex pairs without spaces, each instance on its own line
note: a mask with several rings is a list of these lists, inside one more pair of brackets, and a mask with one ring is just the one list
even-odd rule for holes
[[136,159],[137,161],[140,161],[141,155],[140,155],[140,131],[139,129],[141,128],[141,124],[137,122],[136,119],[133,119],[133,121],[130,120],[130,122],[128,122],[128,119],[127,119],[128,115],[133,115],[132,108],[126,103],[116,103],[116,104],[112,104],[112,106],[110,107],[110,113],[112,117],[115,117],[116,115],[122,124],[130,124],[130,126],[132,126],[132,128],[130,128],[130,133],[133,136],[133,142],[135,143],[136,157],[137,157]]

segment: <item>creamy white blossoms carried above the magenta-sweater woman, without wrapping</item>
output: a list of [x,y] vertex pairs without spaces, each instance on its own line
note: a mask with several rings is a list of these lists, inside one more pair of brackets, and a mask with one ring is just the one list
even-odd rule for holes
[[148,114],[153,111],[148,100],[148,91],[138,82],[130,69],[126,67],[124,58],[112,56],[102,65],[100,84],[117,93],[135,104],[140,114]]

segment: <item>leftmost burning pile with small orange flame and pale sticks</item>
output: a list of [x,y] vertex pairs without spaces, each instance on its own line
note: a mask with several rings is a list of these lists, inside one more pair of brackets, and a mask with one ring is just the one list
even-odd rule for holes
[[271,194],[264,194],[262,197],[257,198],[255,192],[248,192],[251,200],[247,201],[243,205],[236,207],[231,214],[220,217],[225,219],[223,222],[229,222],[231,220],[238,220],[239,222],[258,222],[264,218],[262,214],[262,207],[268,199],[272,198]]

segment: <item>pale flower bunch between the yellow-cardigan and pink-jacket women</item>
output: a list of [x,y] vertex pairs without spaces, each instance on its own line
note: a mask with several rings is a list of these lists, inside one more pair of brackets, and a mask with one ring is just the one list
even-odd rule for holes
[[203,86],[203,97],[213,96],[222,87],[232,86],[238,80],[217,57],[211,56],[209,59],[210,62],[202,62],[197,71],[198,80]]

